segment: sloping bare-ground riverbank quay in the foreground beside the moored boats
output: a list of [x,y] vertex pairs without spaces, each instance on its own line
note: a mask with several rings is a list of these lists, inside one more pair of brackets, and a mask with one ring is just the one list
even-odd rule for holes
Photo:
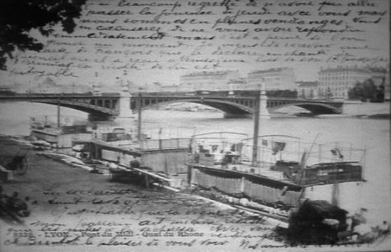
[[[20,148],[5,136],[0,137],[0,144],[1,152]],[[302,251],[326,247],[287,244],[266,217],[183,192],[109,182],[107,176],[37,153],[29,152],[25,175],[2,184],[4,193],[18,191],[32,203],[23,224],[0,220],[1,251]],[[367,251],[386,247],[383,243],[389,245],[389,237],[379,244],[333,246],[332,250]]]

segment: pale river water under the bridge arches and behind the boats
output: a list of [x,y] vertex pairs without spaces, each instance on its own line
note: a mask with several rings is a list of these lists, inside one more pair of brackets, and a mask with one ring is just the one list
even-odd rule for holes
[[[30,117],[48,116],[56,122],[57,107],[28,103],[1,103],[0,133],[28,135]],[[87,114],[62,108],[63,118],[87,120]],[[98,127],[135,127],[135,119],[119,119],[115,122],[101,122]],[[219,111],[145,110],[142,115],[143,130],[152,137],[161,132],[161,137],[189,137],[194,133],[233,131],[253,134],[252,119],[225,119]],[[368,209],[370,222],[387,219],[391,212],[391,169],[390,169],[390,123],[389,120],[367,118],[271,118],[260,119],[261,134],[283,134],[297,136],[312,142],[350,142],[353,147],[366,149],[365,179],[367,180],[352,196],[357,197],[360,206]]]

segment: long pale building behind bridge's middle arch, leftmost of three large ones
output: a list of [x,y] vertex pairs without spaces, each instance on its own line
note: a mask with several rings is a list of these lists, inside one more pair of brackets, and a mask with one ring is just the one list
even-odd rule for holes
[[239,71],[194,72],[180,76],[179,90],[193,92],[198,90],[229,90],[229,82],[240,78]]

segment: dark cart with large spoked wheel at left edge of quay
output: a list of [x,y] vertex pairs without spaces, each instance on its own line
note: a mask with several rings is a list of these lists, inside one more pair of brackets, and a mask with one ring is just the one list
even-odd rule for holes
[[21,148],[14,156],[0,156],[0,179],[3,182],[9,180],[12,175],[24,175],[27,172],[29,164],[26,156],[29,151],[30,148]]

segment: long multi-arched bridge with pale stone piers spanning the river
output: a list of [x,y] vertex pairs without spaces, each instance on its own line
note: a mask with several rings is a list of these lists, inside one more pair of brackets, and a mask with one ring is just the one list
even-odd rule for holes
[[[192,102],[207,105],[224,111],[226,117],[246,117],[255,112],[255,97],[230,96],[185,96],[185,95],[142,95],[121,96],[119,93],[93,96],[80,94],[19,94],[2,96],[0,100],[30,101],[52,105],[59,105],[84,111],[89,114],[90,120],[113,120],[117,117],[133,117],[132,114],[141,107],[149,108],[164,103]],[[265,102],[266,101],[266,102]],[[313,115],[340,114],[343,102],[303,100],[292,98],[266,98],[260,102],[260,111],[268,110],[272,113],[278,108],[294,105],[311,111]]]

